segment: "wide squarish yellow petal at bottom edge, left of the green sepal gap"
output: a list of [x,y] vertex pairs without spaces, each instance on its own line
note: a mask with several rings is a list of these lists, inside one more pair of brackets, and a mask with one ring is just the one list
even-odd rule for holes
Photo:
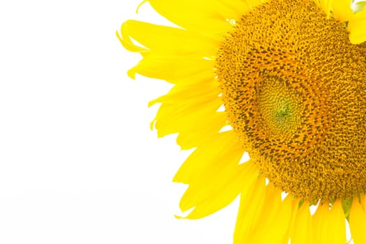
[[342,202],[339,199],[335,201],[330,210],[328,209],[328,204],[319,206],[313,220],[314,243],[346,243],[346,222]]

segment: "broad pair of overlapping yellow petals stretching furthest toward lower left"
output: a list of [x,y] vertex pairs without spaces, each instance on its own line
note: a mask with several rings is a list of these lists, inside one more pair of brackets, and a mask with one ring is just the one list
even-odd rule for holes
[[[252,174],[250,164],[238,165],[244,151],[233,131],[222,132],[199,146],[174,176],[190,186],[181,199],[186,217],[203,218],[231,203]],[[248,176],[249,174],[249,176]]]

